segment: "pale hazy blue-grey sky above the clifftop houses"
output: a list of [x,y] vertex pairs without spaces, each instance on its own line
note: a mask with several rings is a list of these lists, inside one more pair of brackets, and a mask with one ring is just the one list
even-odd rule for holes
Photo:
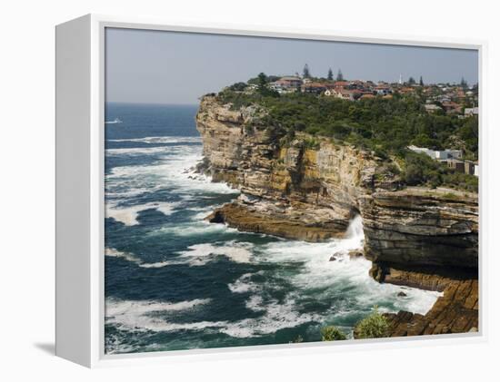
[[106,102],[195,104],[258,73],[477,83],[474,50],[106,28]]

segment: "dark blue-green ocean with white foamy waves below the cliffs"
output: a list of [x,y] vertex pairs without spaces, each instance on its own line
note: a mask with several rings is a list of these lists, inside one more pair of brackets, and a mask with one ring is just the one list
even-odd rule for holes
[[360,218],[325,243],[206,222],[239,192],[193,171],[196,111],[105,106],[106,354],[320,341],[326,325],[352,338],[375,306],[432,307],[439,293],[379,284],[368,260],[329,261],[362,246]]

